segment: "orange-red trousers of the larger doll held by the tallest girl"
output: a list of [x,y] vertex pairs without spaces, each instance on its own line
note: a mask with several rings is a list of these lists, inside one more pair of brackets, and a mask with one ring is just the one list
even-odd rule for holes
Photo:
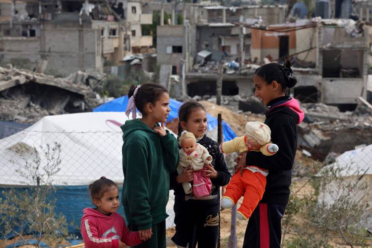
[[248,219],[258,205],[258,202],[262,199],[265,186],[265,176],[259,172],[244,169],[242,176],[240,176],[240,172],[237,172],[232,177],[223,197],[230,198],[236,204],[240,197],[244,196],[238,212],[242,213]]

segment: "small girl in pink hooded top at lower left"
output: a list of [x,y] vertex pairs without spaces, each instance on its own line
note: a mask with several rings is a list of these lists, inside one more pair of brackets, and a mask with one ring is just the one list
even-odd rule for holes
[[142,241],[138,232],[130,232],[119,209],[119,188],[105,177],[89,185],[97,208],[85,208],[81,218],[81,235],[85,248],[124,248]]

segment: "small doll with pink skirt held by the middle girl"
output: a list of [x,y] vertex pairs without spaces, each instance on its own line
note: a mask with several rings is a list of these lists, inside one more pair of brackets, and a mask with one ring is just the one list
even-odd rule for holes
[[196,143],[196,138],[192,132],[183,131],[181,133],[179,144],[180,149],[180,164],[177,171],[182,173],[182,170],[188,166],[194,171],[194,180],[191,189],[189,183],[183,183],[185,193],[193,193],[195,196],[209,195],[212,188],[210,178],[204,177],[203,167],[212,163],[212,156],[207,148]]

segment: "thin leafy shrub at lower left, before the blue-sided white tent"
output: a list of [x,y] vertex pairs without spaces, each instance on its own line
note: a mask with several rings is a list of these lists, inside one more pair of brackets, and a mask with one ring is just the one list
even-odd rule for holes
[[40,146],[40,149],[17,146],[14,151],[22,161],[10,162],[16,172],[29,185],[24,189],[4,190],[0,198],[0,235],[17,236],[24,240],[26,234],[34,234],[36,247],[41,242],[57,247],[68,237],[65,217],[55,213],[56,199],[51,195],[57,187],[53,185],[52,176],[61,170],[61,145],[54,143]]

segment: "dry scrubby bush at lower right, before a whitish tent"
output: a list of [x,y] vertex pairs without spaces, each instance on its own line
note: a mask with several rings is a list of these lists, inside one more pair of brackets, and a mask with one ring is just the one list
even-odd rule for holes
[[[307,178],[311,190],[293,192],[286,209],[282,236],[285,247],[331,247],[330,231],[349,247],[366,245],[368,234],[361,223],[367,207],[367,182],[364,171],[345,177],[352,166],[313,164]],[[289,226],[295,238],[285,240]]]

